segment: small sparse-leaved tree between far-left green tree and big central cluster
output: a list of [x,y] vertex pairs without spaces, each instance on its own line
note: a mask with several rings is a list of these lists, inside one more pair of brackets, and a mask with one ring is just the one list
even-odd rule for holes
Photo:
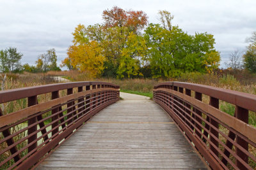
[[42,69],[42,71],[60,71],[60,67],[57,66],[57,55],[55,49],[47,50],[47,53],[41,54],[36,61],[36,67]]

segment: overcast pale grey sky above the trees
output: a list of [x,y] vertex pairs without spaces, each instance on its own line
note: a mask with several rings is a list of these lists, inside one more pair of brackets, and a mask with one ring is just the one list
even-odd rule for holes
[[245,50],[245,39],[256,31],[256,1],[12,1],[0,0],[0,50],[17,47],[23,53],[22,64],[35,64],[38,55],[55,48],[58,64],[67,57],[77,24],[102,23],[102,11],[118,6],[124,10],[142,10],[148,21],[159,23],[157,12],[170,11],[173,25],[187,31],[208,32],[221,52],[221,67],[229,54]]

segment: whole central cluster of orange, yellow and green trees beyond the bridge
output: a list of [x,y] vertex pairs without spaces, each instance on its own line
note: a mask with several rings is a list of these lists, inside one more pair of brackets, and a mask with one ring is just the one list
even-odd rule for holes
[[104,10],[104,23],[77,25],[63,66],[117,78],[175,77],[218,68],[220,53],[212,34],[190,35],[172,24],[170,12],[158,16],[161,24],[148,24],[143,11]]

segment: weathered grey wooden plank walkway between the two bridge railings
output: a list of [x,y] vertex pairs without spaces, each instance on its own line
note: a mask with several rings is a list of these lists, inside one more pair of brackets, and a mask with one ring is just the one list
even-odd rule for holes
[[164,110],[147,97],[120,94],[37,169],[206,169]]

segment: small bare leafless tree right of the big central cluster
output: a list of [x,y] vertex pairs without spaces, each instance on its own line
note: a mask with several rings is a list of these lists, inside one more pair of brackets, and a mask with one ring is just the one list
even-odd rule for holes
[[225,62],[225,65],[227,67],[230,67],[234,71],[236,71],[237,69],[242,69],[242,53],[239,50],[235,50],[234,52],[230,53],[229,62]]

